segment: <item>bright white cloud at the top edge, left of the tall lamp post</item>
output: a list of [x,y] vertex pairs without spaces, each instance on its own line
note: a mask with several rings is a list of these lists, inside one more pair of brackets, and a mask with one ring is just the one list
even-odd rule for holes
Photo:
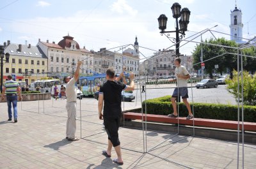
[[111,11],[115,11],[117,13],[128,13],[129,15],[135,16],[138,11],[132,9],[129,4],[125,0],[117,0],[115,3],[111,5]]

